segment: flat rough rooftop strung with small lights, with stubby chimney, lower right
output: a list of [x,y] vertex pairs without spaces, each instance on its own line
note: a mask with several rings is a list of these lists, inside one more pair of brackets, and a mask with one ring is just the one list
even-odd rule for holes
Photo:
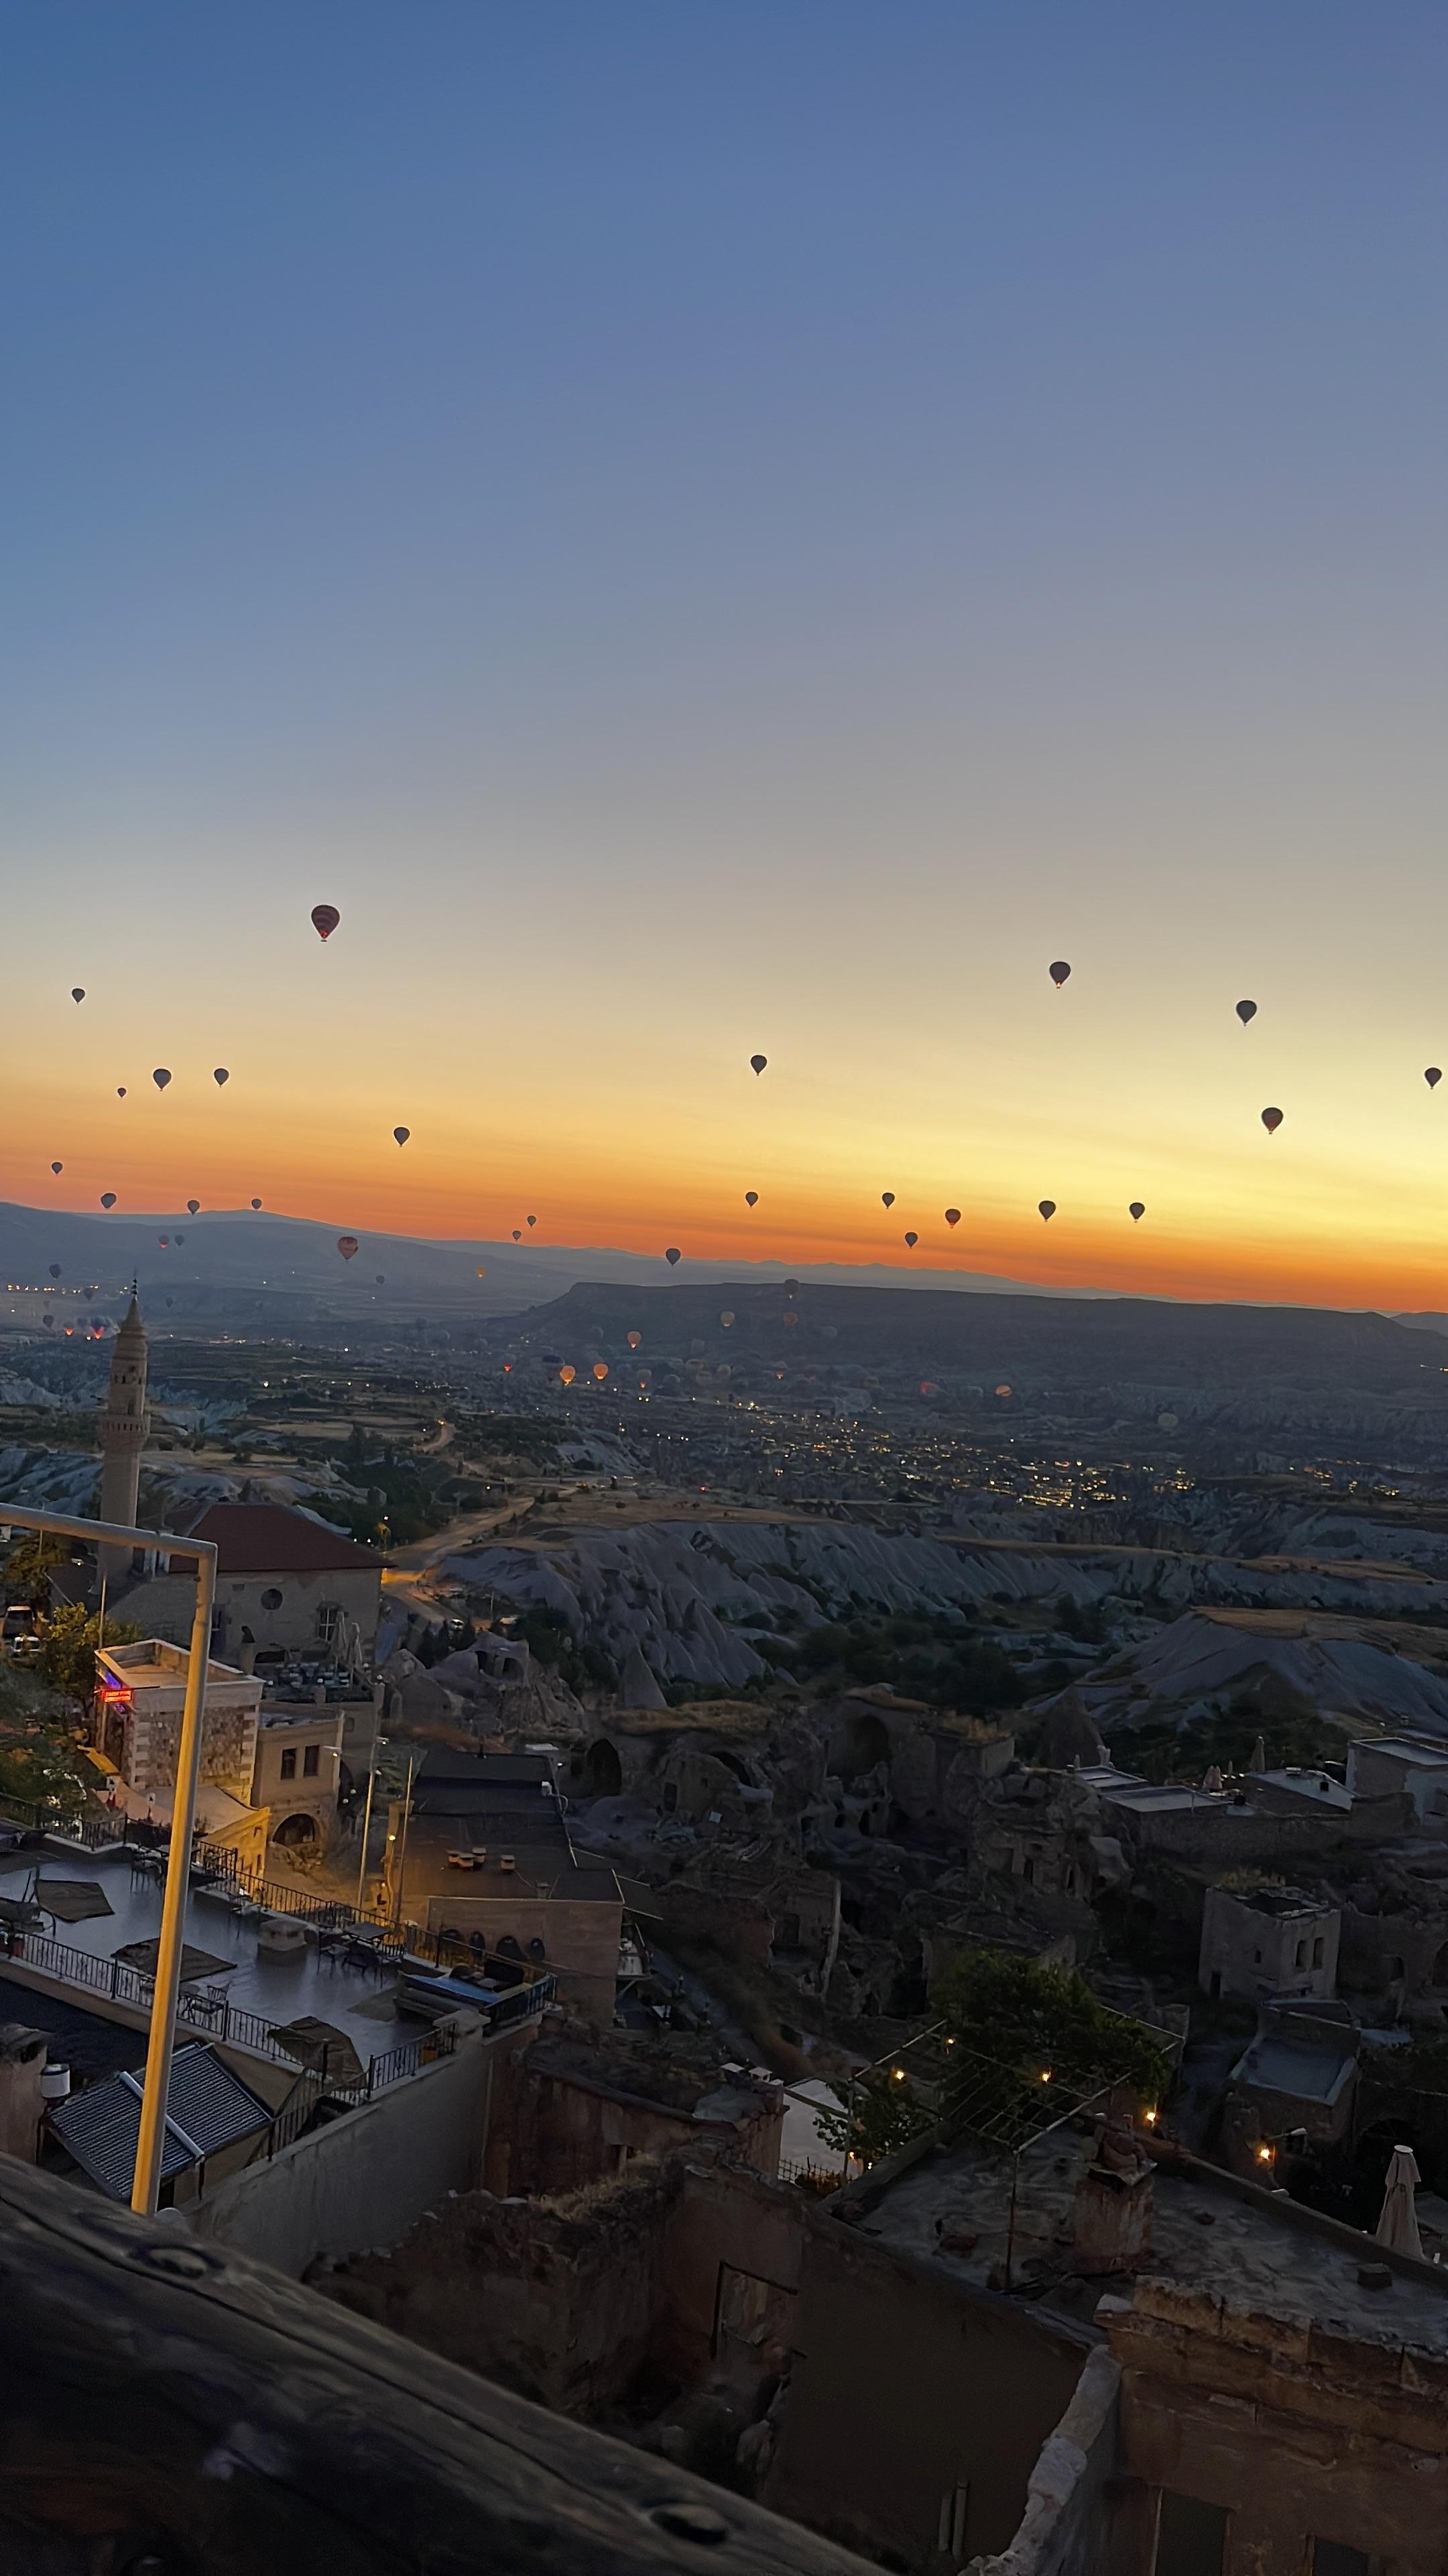
[[[1072,2202],[1090,2141],[1054,2130],[1020,2156],[1013,2290],[1033,2306],[1087,2324],[1103,2293],[1129,2295],[1126,2277],[1072,2269]],[[938,2223],[953,2236],[943,2251]],[[902,2254],[938,2262],[976,2287],[1002,2287],[1010,2231],[1010,2156],[961,2146],[925,2156],[853,2228]],[[969,2239],[974,2236],[974,2244]],[[1358,2264],[1381,2262],[1371,2236],[1335,2228],[1286,2192],[1260,2192],[1211,2166],[1159,2166],[1152,2251],[1144,2275],[1262,2308],[1301,2324],[1384,2344],[1448,2354],[1448,2275],[1394,2275],[1391,2290],[1366,2290]]]

